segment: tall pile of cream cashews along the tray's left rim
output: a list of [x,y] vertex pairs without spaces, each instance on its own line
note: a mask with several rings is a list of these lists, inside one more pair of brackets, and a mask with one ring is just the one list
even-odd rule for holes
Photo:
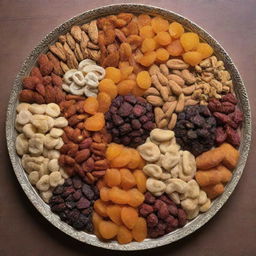
[[52,190],[68,178],[59,166],[59,149],[63,146],[63,129],[68,125],[59,117],[60,107],[55,103],[20,103],[17,108],[15,127],[20,134],[16,138],[16,151],[21,164],[28,174],[28,180],[49,202]]

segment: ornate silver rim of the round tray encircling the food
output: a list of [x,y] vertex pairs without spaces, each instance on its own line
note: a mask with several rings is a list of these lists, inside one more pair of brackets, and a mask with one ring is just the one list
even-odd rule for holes
[[[18,93],[21,90],[22,78],[26,76],[30,72],[31,68],[35,65],[36,59],[39,54],[46,52],[48,45],[55,42],[59,35],[66,33],[71,28],[71,26],[75,24],[87,23],[93,19],[110,14],[117,14],[119,12],[148,13],[152,15],[161,15],[169,21],[178,21],[183,24],[186,29],[198,33],[202,39],[204,39],[214,48],[217,57],[224,61],[226,69],[231,73],[232,79],[234,81],[235,93],[240,101],[240,108],[244,113],[244,122],[241,130],[241,145],[239,148],[241,153],[239,163],[233,172],[233,178],[231,182],[229,182],[229,184],[227,184],[226,186],[225,192],[216,200],[214,200],[213,206],[210,208],[210,210],[204,214],[200,214],[193,221],[189,222],[185,227],[177,229],[174,232],[171,232],[163,237],[160,237],[158,239],[146,239],[141,243],[132,242],[127,245],[120,245],[116,241],[102,242],[98,240],[95,235],[87,234],[82,231],[76,231],[71,226],[62,222],[57,215],[51,212],[50,207],[46,203],[44,203],[44,201],[38,195],[37,191],[29,183],[25,171],[21,166],[21,161],[15,151],[15,139],[17,133],[14,128],[16,112],[15,109],[18,102]],[[109,5],[86,11],[66,21],[59,27],[55,28],[50,34],[48,34],[30,53],[30,55],[23,63],[21,70],[18,73],[16,80],[13,84],[13,89],[11,92],[7,110],[6,139],[13,169],[21,187],[23,188],[24,192],[26,193],[32,204],[37,208],[37,210],[55,227],[83,243],[88,243],[94,246],[103,247],[111,250],[143,250],[170,244],[193,233],[194,231],[202,227],[206,222],[208,222],[224,205],[224,203],[227,201],[227,199],[235,189],[246,163],[251,141],[251,113],[247,92],[237,68],[235,67],[234,63],[232,62],[226,51],[211,35],[209,35],[209,33],[207,33],[205,30],[203,30],[192,21],[182,17],[181,15],[161,8],[140,4]]]

